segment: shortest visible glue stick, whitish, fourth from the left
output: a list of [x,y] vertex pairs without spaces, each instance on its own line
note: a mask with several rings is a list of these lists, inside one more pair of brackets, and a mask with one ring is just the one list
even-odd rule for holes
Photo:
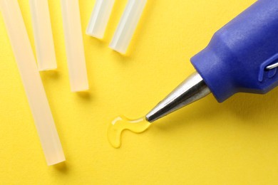
[[115,0],[97,0],[86,34],[103,38]]

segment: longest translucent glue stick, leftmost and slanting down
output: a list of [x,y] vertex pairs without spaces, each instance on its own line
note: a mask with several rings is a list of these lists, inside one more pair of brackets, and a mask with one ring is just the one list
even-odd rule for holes
[[0,0],[0,10],[11,41],[19,73],[29,100],[48,165],[65,161],[46,93],[17,0]]

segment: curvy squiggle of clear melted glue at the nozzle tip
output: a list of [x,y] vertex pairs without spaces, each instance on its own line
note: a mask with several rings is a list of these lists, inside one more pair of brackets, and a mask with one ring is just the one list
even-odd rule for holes
[[123,130],[128,129],[134,133],[141,133],[148,127],[150,127],[150,122],[145,120],[145,117],[138,120],[129,120],[123,116],[117,117],[108,127],[108,140],[113,147],[118,148],[120,147],[120,135]]

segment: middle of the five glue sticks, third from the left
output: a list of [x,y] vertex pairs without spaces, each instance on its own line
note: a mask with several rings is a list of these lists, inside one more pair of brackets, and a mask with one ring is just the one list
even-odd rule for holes
[[78,0],[61,0],[71,91],[88,90]]

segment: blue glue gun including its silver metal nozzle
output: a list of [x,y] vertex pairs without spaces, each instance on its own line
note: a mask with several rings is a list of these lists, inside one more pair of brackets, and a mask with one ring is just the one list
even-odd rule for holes
[[223,102],[235,93],[264,94],[277,87],[278,1],[256,1],[217,31],[191,62],[197,73],[146,115],[149,122],[210,93]]

